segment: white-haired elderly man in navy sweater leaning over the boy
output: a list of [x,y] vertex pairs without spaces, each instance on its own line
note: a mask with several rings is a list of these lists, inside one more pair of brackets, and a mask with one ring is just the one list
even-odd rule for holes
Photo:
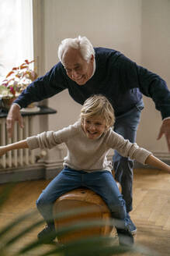
[[[15,121],[23,127],[19,109],[33,101],[41,101],[68,89],[71,98],[80,103],[92,94],[103,94],[113,105],[116,121],[114,130],[130,142],[135,142],[141,110],[142,94],[153,99],[161,112],[162,124],[158,139],[163,134],[170,150],[170,91],[165,81],[122,53],[108,48],[93,48],[86,37],[67,38],[58,48],[57,63],[48,73],[36,79],[19,95],[9,110],[7,129],[12,136]],[[133,161],[115,152],[115,179],[122,186],[127,212],[132,210]],[[130,219],[130,231],[137,228]]]

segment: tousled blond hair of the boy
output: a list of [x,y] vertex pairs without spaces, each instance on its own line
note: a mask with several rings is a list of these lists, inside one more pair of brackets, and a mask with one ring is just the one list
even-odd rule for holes
[[81,121],[92,116],[102,116],[106,121],[107,128],[113,126],[113,106],[105,96],[100,94],[94,95],[84,102],[80,114]]

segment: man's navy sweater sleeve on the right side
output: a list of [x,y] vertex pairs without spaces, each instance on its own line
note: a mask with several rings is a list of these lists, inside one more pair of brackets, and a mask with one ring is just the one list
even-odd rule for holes
[[137,66],[124,55],[120,56],[118,63],[124,91],[139,87],[142,94],[152,98],[162,119],[170,116],[170,91],[165,80],[144,67]]

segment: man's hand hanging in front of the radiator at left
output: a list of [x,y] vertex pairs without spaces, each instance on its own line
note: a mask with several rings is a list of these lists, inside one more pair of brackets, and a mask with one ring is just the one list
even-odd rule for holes
[[19,126],[23,128],[23,117],[20,114],[20,109],[18,105],[12,105],[9,109],[9,114],[6,118],[6,128],[9,134],[9,137],[12,137],[12,130],[14,123],[18,121]]

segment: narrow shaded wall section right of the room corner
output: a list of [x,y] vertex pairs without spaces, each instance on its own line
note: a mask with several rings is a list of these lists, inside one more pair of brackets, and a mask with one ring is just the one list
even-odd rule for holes
[[[158,73],[170,89],[170,1],[142,0],[141,64]],[[167,152],[165,137],[156,140],[161,126],[161,114],[154,102],[144,98],[137,142],[154,152]]]

